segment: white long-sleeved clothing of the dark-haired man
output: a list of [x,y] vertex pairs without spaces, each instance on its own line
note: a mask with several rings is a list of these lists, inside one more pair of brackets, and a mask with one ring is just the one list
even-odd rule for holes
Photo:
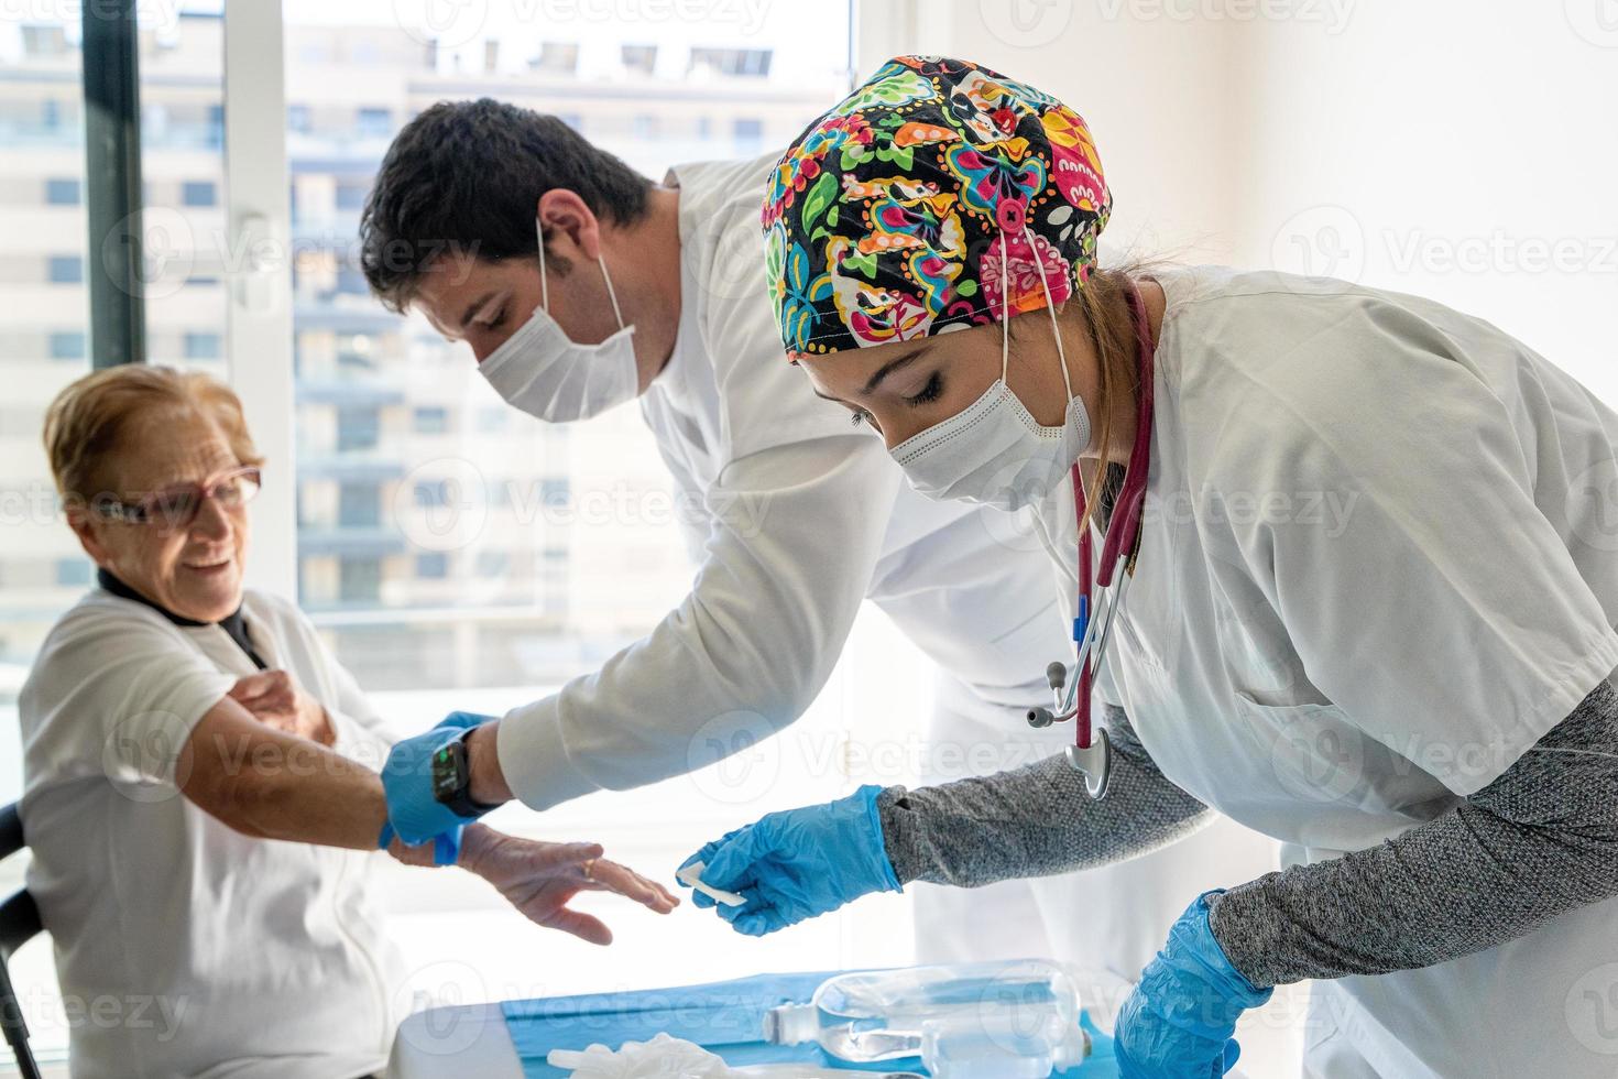
[[[683,303],[673,356],[641,409],[681,493],[709,511],[693,535],[701,571],[644,641],[505,717],[500,764],[534,809],[680,775],[710,762],[710,746],[739,749],[786,726],[820,692],[867,597],[950,673],[934,743],[1006,751],[930,778],[1026,764],[1071,736],[1023,718],[1048,697],[1045,665],[1071,652],[1039,544],[1000,514],[911,492],[880,440],[853,430],[783,358],[759,231],[773,163],[670,175]],[[1251,874],[1273,862],[1272,844],[1228,830],[1118,870],[958,896],[917,885],[921,953],[1055,954],[1134,975],[1215,857]],[[1097,909],[1107,916],[1087,914]]]

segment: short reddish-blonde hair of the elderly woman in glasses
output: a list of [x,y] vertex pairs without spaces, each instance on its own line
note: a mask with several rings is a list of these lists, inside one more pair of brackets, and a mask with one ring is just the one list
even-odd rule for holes
[[45,455],[63,501],[83,505],[102,493],[110,455],[128,427],[165,408],[205,416],[241,464],[264,464],[230,387],[199,370],[121,364],[73,382],[45,413]]

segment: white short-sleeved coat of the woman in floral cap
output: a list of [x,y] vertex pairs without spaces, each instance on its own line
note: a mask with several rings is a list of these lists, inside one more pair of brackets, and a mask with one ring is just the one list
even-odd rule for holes
[[[1618,668],[1618,416],[1435,303],[1160,280],[1146,531],[1105,692],[1170,780],[1288,864],[1417,828]],[[1071,595],[1071,492],[1037,516]],[[1615,963],[1607,901],[1435,967],[1317,984],[1307,1068],[1612,1079]]]

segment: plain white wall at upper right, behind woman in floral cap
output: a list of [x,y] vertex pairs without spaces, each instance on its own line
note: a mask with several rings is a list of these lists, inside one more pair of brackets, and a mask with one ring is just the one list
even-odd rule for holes
[[1618,2],[866,6],[862,73],[900,42],[1076,108],[1115,246],[1427,294],[1618,401]]

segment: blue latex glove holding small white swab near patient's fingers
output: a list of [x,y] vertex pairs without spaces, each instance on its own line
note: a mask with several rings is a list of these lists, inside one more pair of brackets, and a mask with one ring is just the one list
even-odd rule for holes
[[715,904],[701,891],[691,901],[717,906],[731,929],[762,937],[870,891],[898,891],[882,846],[880,793],[880,786],[862,786],[825,806],[767,814],[709,843],[680,867],[704,862],[702,883],[736,891],[748,903]]

